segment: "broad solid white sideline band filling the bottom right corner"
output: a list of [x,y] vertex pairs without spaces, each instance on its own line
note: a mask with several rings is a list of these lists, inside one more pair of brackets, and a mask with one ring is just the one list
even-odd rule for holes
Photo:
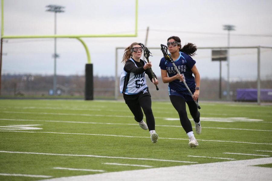
[[272,169],[254,167],[254,165],[271,164],[272,157],[250,160],[235,160],[209,164],[193,164],[175,167],[150,168],[144,170],[131,170],[121,172],[108,172],[83,176],[61,177],[43,181],[218,181],[239,180],[256,181],[271,180]]

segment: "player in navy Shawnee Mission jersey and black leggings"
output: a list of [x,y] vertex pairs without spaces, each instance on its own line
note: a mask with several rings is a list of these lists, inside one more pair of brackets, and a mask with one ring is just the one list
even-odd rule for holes
[[[162,58],[160,60],[161,78],[164,83],[169,83],[168,91],[170,101],[177,110],[180,117],[180,123],[189,137],[189,146],[196,147],[198,146],[198,142],[194,136],[192,124],[187,116],[186,103],[189,107],[189,112],[194,119],[196,133],[200,134],[200,113],[194,102],[198,101],[200,75],[195,65],[196,61],[191,58],[191,56],[195,55],[197,48],[192,43],[188,43],[181,48],[180,38],[175,36],[167,39],[167,46],[170,57],[173,59],[181,75],[176,72],[171,62]],[[191,90],[193,97],[183,84],[183,79]]]

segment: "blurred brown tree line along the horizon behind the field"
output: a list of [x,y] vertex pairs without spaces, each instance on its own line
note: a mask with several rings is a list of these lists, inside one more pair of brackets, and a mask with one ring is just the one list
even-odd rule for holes
[[[152,99],[168,100],[168,84],[164,84],[158,77],[160,90],[156,90],[154,84],[147,79],[147,85],[151,91]],[[94,76],[94,97],[99,99],[114,99],[115,97],[115,78]],[[118,80],[119,82],[119,80]],[[119,86],[119,83],[118,83]],[[225,100],[224,91],[227,81],[222,80],[221,98],[219,98],[219,79],[201,78],[200,99],[201,100]],[[230,83],[232,100],[236,99],[238,88],[257,88],[257,81],[235,81]],[[48,96],[49,90],[53,89],[52,75],[30,75],[30,74],[4,74],[1,78],[1,97],[5,96]],[[85,76],[70,75],[57,76],[57,89],[61,90],[60,96],[79,96],[85,95]],[[272,89],[272,80],[261,81],[261,89]],[[119,87],[118,87],[119,90]],[[122,94],[118,92],[118,99],[122,99]]]

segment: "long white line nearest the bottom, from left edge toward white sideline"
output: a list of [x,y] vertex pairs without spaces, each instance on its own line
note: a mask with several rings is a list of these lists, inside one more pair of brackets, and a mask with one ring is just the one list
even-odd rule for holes
[[38,154],[38,155],[72,156],[72,157],[116,158],[116,159],[130,159],[130,160],[149,160],[149,161],[178,162],[178,163],[189,163],[189,164],[197,164],[198,163],[198,162],[192,162],[192,161],[161,160],[161,159],[152,159],[152,158],[110,157],[110,156],[99,156],[99,155],[55,154],[55,153],[34,153],[34,152],[20,152],[20,151],[0,151],[0,153]]

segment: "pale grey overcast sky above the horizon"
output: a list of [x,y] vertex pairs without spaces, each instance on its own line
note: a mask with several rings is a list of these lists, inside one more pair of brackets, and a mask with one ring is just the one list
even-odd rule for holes
[[[4,35],[53,35],[54,13],[47,5],[64,6],[57,14],[57,34],[134,34],[135,0],[4,0]],[[235,26],[230,46],[272,47],[271,0],[138,0],[138,37],[82,38],[87,44],[94,75],[115,75],[115,49],[133,42],[160,47],[170,36],[179,36],[182,46],[195,43],[201,47],[227,46],[223,25]],[[3,43],[2,74],[31,73],[53,75],[53,39],[7,39]],[[6,42],[8,41],[8,42]],[[162,53],[150,49],[154,73]],[[118,75],[121,74],[123,49],[118,50]],[[57,39],[57,74],[84,75],[87,63],[83,45],[75,39]],[[230,51],[231,78],[257,76],[257,50]],[[218,78],[219,63],[211,61],[210,49],[198,49],[193,57],[201,77]],[[272,76],[272,49],[261,49],[261,76]],[[222,63],[222,76],[227,66]]]

